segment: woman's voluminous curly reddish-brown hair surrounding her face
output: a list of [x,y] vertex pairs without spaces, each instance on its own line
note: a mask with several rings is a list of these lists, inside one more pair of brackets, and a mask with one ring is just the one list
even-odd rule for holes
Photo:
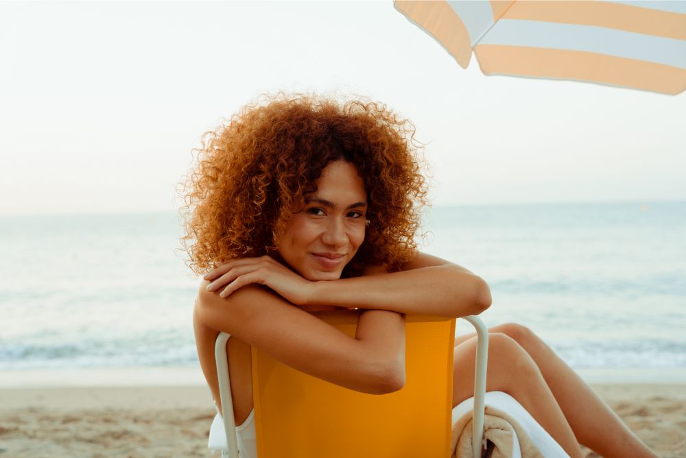
[[202,137],[182,183],[185,236],[197,274],[233,257],[274,249],[286,221],[316,191],[332,161],[353,163],[364,181],[369,220],[343,275],[364,266],[397,271],[416,253],[418,209],[427,203],[414,125],[386,105],[316,95],[266,95]]

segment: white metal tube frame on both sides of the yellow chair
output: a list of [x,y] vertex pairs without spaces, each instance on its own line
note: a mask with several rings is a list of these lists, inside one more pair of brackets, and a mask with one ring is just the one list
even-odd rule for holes
[[[486,367],[488,365],[488,329],[484,322],[474,315],[462,317],[469,321],[476,329],[476,371],[474,376],[474,411],[472,422],[472,448],[473,458],[481,457],[484,448],[484,396],[486,396]],[[238,458],[238,439],[236,426],[233,420],[233,399],[231,398],[231,381],[228,376],[228,357],[226,343],[230,334],[220,332],[215,341],[215,360],[217,362],[217,378],[219,379],[220,400],[222,401],[222,415],[224,420],[224,432],[228,450],[222,450],[224,458]]]

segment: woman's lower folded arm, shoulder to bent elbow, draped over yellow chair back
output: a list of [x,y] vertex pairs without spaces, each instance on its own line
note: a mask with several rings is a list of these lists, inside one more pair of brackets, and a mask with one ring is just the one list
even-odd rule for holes
[[364,393],[397,391],[405,383],[405,319],[366,310],[355,338],[255,284],[226,299],[203,282],[195,319],[228,332],[283,363],[312,376]]

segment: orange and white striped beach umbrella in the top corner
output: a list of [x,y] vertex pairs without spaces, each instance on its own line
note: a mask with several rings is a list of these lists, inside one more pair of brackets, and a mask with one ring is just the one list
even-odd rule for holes
[[460,63],[486,75],[686,89],[686,1],[395,1]]

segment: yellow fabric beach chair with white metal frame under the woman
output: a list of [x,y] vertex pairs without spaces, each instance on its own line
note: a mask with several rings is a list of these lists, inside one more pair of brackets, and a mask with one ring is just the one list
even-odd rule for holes
[[[316,315],[350,336],[357,310]],[[474,457],[481,456],[488,331],[478,317],[473,406]],[[252,391],[259,458],[448,457],[451,446],[455,319],[407,315],[405,386],[371,395],[339,387],[274,360],[252,347]],[[217,414],[210,448],[238,458],[226,343],[215,344],[224,419]],[[214,446],[213,446],[214,444]]]

